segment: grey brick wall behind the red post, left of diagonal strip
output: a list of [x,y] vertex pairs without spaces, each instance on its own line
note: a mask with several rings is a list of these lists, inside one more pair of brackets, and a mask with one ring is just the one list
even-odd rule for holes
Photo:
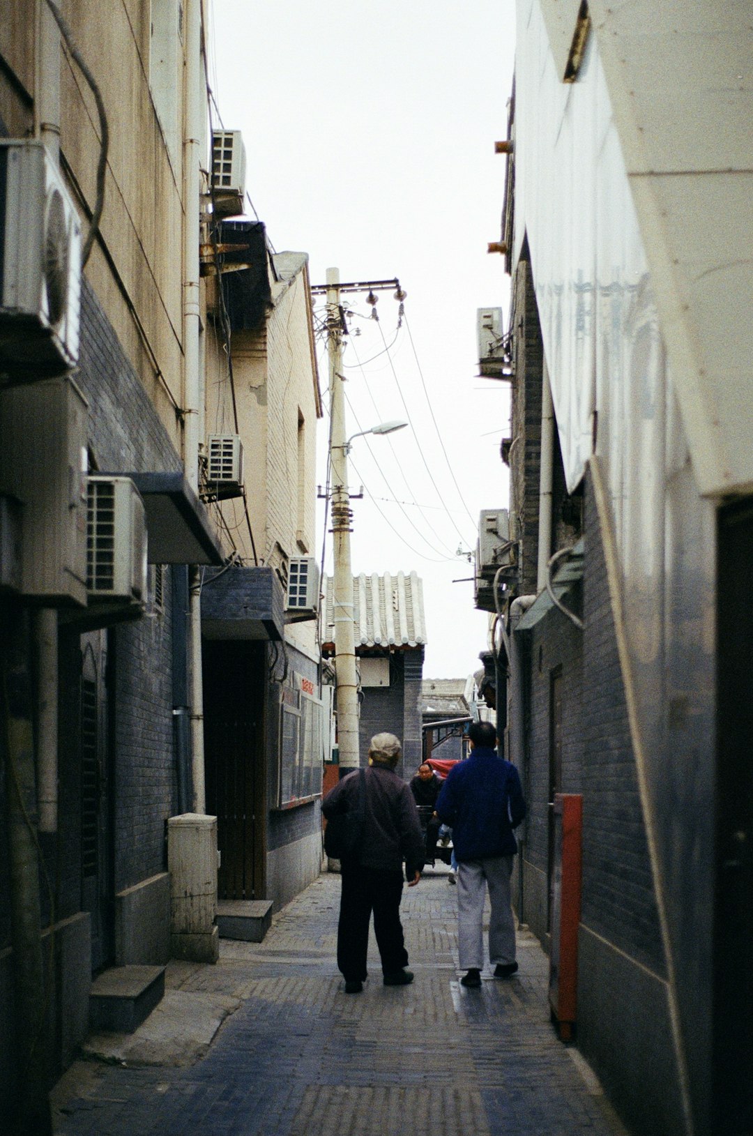
[[[586,488],[585,630],[551,610],[529,637],[529,758],[524,770],[529,815],[526,860],[547,871],[551,677],[562,680],[562,780],[582,793],[583,922],[626,954],[663,975],[635,758],[630,742],[599,520]],[[577,595],[567,599],[569,605]],[[534,902],[536,899],[536,902]],[[543,896],[530,896],[526,919],[545,933]]]

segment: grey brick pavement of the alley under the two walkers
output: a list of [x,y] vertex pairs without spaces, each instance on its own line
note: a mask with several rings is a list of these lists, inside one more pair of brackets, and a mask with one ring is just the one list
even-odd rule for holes
[[577,1051],[555,1037],[546,958],[458,982],[455,891],[443,868],[405,889],[412,986],[346,995],[335,964],[340,877],[321,876],[262,944],[223,941],[216,967],[167,984],[240,1006],[191,1068],[77,1062],[55,1094],[59,1136],[625,1136]]

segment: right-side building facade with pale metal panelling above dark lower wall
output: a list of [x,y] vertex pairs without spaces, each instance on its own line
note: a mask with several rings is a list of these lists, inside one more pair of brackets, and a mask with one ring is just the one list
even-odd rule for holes
[[636,1130],[744,1133],[750,22],[710,3],[517,14],[499,354],[520,916],[549,947],[552,802],[580,796],[577,1043]]

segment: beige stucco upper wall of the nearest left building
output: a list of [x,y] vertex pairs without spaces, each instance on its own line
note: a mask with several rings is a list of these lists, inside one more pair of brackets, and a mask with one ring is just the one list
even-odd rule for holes
[[[175,412],[184,401],[182,170],[170,164],[150,91],[150,6],[102,0],[92,19],[85,5],[70,2],[65,16],[101,90],[110,135],[101,244],[85,275],[182,453]],[[0,19],[0,56],[9,73],[0,69],[0,116],[16,136],[34,128],[41,17],[50,19],[44,3],[6,0]],[[176,72],[179,107],[179,60]],[[60,158],[84,228],[95,200],[99,152],[92,92],[61,45]]]

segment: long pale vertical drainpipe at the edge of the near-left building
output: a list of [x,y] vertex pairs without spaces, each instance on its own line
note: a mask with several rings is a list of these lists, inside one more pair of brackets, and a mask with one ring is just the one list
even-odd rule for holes
[[[199,429],[203,391],[200,362],[200,164],[201,164],[201,0],[185,7],[185,112],[183,139],[183,334],[184,442],[183,465],[191,488],[199,494]],[[191,754],[194,812],[204,812],[203,686],[201,679],[201,576],[189,569],[189,651],[191,655]]]

